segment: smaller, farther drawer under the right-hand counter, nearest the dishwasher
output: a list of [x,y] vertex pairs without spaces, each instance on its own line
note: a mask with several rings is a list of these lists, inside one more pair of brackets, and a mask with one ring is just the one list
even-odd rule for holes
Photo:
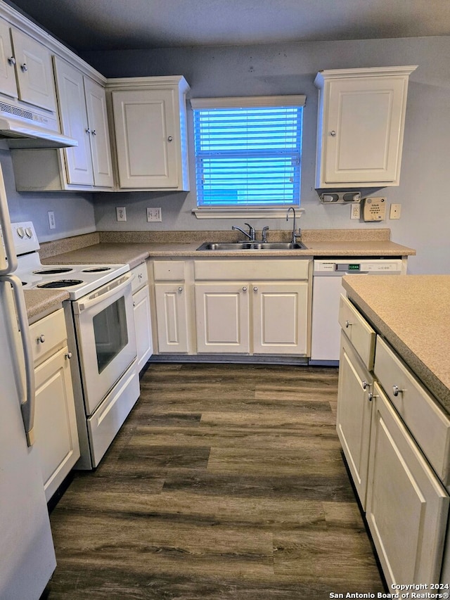
[[343,295],[340,297],[339,324],[368,370],[372,371],[375,355],[375,331],[359,314],[352,302]]

